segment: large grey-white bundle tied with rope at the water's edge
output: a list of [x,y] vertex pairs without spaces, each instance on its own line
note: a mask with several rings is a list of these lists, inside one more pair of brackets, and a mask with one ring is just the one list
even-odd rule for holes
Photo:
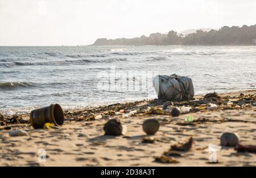
[[192,79],[177,74],[157,75],[154,78],[154,88],[159,99],[168,101],[191,100],[195,94]]

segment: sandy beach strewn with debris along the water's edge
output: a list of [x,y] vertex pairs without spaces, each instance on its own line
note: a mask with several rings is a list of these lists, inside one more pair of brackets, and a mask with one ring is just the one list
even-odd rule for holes
[[[241,144],[256,145],[256,90],[219,95],[217,100],[201,95],[193,101],[174,102],[175,106],[191,107],[189,113],[179,117],[165,112],[164,101],[160,100],[65,110],[64,125],[51,129],[33,129],[28,114],[0,115],[0,166],[255,166],[255,153],[237,152],[234,147],[221,147],[216,152],[217,162],[209,162],[211,153],[207,148],[209,144],[219,146],[222,133],[237,133]],[[218,108],[207,109],[209,103]],[[102,118],[95,119],[99,114]],[[188,117],[193,120],[186,121]],[[120,119],[127,132],[104,135],[103,127],[110,118]],[[149,136],[154,137],[154,143],[142,142],[147,136],[142,123],[148,118],[160,122],[159,131]],[[28,135],[9,136],[14,129],[27,131]],[[171,145],[185,143],[191,136],[190,150],[167,155],[173,162],[156,159]],[[46,151],[46,162],[38,160],[40,149]]]

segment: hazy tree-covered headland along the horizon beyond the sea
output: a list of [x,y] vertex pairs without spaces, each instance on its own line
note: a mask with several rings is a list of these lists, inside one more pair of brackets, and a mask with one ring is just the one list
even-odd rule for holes
[[220,30],[191,29],[181,34],[171,30],[168,34],[157,32],[131,39],[100,38],[93,45],[256,45],[256,25],[224,26]]

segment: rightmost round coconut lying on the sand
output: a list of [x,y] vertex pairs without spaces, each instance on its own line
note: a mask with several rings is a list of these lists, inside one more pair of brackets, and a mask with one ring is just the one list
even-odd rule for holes
[[238,135],[236,133],[224,133],[221,135],[220,144],[225,147],[234,147],[239,142]]

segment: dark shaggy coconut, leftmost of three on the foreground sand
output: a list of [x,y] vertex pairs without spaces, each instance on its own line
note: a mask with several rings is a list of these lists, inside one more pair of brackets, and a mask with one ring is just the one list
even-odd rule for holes
[[110,119],[104,126],[105,135],[122,135],[122,124],[118,119]]

